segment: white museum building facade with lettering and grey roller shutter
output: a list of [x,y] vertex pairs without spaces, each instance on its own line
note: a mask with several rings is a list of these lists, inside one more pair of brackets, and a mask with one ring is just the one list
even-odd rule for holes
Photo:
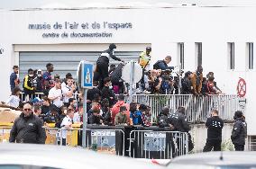
[[243,78],[248,134],[256,135],[255,15],[256,7],[240,6],[1,10],[0,100],[10,94],[14,65],[23,78],[28,68],[45,70],[51,62],[54,74],[64,77],[75,75],[79,60],[96,61],[109,43],[126,61],[151,46],[151,65],[167,55],[171,66],[185,71],[202,65],[205,75],[215,72],[224,93],[237,93]]

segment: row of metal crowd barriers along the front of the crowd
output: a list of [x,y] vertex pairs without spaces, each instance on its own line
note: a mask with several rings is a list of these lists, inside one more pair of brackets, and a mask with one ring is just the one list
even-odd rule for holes
[[[11,128],[0,127],[0,142],[8,142]],[[80,128],[44,128],[47,145],[81,147],[82,136],[85,134],[84,148],[117,156],[171,159],[175,156],[186,155],[188,152],[187,133],[158,127],[89,125],[85,132]]]

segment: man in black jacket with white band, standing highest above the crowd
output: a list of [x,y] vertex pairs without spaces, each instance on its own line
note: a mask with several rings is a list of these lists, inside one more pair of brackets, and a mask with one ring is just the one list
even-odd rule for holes
[[[108,76],[109,57],[114,60],[122,61],[120,58],[114,56],[114,43],[109,45],[109,48],[102,52],[101,56],[96,61],[96,74],[100,82],[99,88],[102,89],[105,77]],[[95,79],[97,80],[97,79]]]

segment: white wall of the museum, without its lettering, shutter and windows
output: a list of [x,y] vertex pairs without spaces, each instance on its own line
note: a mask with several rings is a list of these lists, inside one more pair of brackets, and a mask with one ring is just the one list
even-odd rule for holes
[[[195,71],[195,42],[203,43],[204,74],[215,72],[217,84],[224,93],[236,93],[239,77],[247,81],[247,111],[249,134],[254,115],[256,82],[255,71],[245,71],[245,42],[256,41],[256,7],[183,7],[169,9],[84,9],[42,11],[0,11],[0,47],[5,49],[0,57],[0,100],[9,92],[9,75],[14,63],[16,44],[87,44],[87,43],[148,43],[152,47],[152,62],[173,57],[177,64],[177,42],[185,42],[185,69]],[[47,22],[132,22],[133,29],[109,31],[114,36],[107,39],[43,39],[42,32],[56,30],[28,30],[29,23]],[[81,29],[76,30],[82,32]],[[100,29],[99,31],[105,31]],[[72,31],[67,31],[72,32]],[[235,69],[228,70],[227,42],[235,43]],[[255,46],[255,45],[254,45]],[[4,82],[4,83],[3,83]]]

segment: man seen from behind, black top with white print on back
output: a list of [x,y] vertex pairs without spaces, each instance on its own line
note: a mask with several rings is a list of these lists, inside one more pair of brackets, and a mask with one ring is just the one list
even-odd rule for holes
[[218,114],[219,112],[214,110],[212,117],[206,120],[207,140],[203,152],[211,151],[213,147],[214,151],[221,151],[224,121],[219,118]]

